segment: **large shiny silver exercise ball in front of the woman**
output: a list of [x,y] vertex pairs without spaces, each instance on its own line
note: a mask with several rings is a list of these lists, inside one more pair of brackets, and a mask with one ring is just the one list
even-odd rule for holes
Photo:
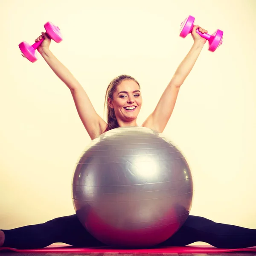
[[87,231],[116,247],[152,247],[186,221],[193,183],[181,151],[163,134],[120,127],[93,140],[76,163],[72,198]]

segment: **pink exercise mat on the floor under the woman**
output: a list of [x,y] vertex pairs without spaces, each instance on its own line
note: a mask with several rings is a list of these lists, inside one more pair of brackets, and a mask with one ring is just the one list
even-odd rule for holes
[[256,246],[241,249],[218,249],[211,245],[197,245],[184,247],[157,247],[151,249],[115,249],[111,247],[76,248],[70,245],[52,244],[42,249],[15,249],[0,247],[0,250],[12,250],[20,253],[230,253],[230,252],[256,252]]

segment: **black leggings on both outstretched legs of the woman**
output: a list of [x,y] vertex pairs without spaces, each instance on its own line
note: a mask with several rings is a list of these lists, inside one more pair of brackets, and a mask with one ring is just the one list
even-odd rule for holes
[[[76,214],[3,232],[3,246],[17,249],[43,248],[56,242],[75,247],[105,246],[85,230]],[[160,245],[185,246],[196,241],[218,248],[246,248],[256,246],[256,230],[189,215],[180,230]]]

